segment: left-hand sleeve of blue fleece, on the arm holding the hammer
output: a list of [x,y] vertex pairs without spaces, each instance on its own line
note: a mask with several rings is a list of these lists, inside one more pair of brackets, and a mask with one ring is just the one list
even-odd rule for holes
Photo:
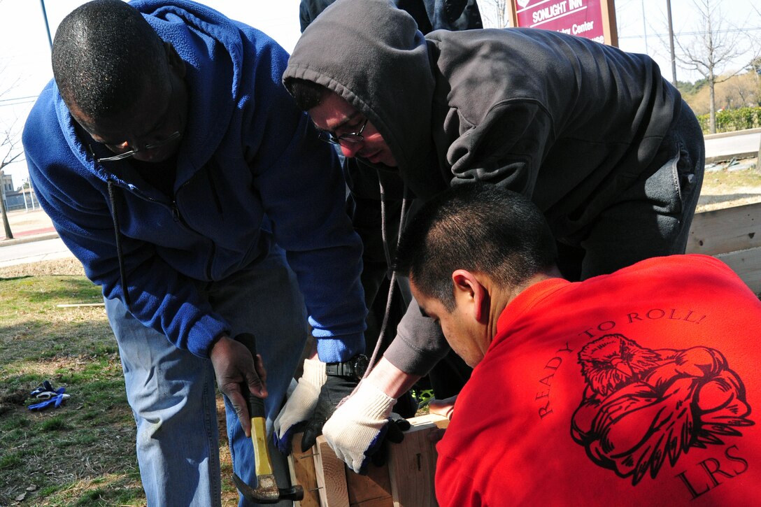
[[[62,241],[82,263],[88,279],[101,286],[104,297],[125,302],[106,183],[77,177],[75,159],[65,149],[41,150],[40,138],[33,134],[38,125],[35,120],[33,116],[31,123],[27,122],[24,146],[40,205],[52,218]],[[56,144],[56,136],[46,139],[47,148]],[[52,161],[49,154],[53,152],[64,155]],[[122,192],[116,190],[112,205],[119,206]],[[200,297],[193,282],[156,255],[151,244],[125,235],[120,240],[126,259],[130,313],[164,333],[176,346],[208,357],[215,338],[229,332],[227,322]]]

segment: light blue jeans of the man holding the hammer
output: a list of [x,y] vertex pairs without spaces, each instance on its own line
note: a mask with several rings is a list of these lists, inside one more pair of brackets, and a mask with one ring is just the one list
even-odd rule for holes
[[[231,336],[253,332],[267,370],[268,441],[280,487],[289,483],[285,457],[272,445],[272,421],[298,366],[308,327],[304,301],[282,250],[218,282],[198,282],[212,308],[231,324]],[[137,422],[137,454],[148,505],[221,505],[215,374],[208,359],[178,349],[143,326],[119,300],[106,311],[124,369],[127,399]],[[253,446],[225,397],[235,473],[256,486]],[[282,502],[290,505],[291,502]],[[251,505],[241,498],[239,505]]]

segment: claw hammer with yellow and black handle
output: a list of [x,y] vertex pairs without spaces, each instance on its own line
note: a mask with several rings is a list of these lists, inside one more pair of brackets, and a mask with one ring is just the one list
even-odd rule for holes
[[[243,343],[249,349],[251,357],[256,362],[256,340],[253,334],[240,333],[235,336],[235,340]],[[301,486],[278,487],[267,448],[264,400],[251,394],[248,384],[245,382],[240,385],[240,389],[246,399],[246,407],[251,418],[251,442],[253,443],[253,458],[256,461],[256,488],[252,488],[237,474],[233,473],[235,486],[240,494],[249,502],[254,503],[277,503],[280,500],[304,499],[304,488]]]

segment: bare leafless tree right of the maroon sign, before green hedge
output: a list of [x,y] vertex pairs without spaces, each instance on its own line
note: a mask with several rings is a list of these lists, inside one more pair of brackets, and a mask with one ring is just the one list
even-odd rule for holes
[[676,55],[680,67],[699,73],[708,84],[708,128],[711,133],[716,132],[715,87],[717,83],[726,81],[742,70],[740,67],[737,71],[724,73],[728,65],[734,63],[747,49],[746,36],[741,30],[724,28],[719,3],[715,0],[693,0],[699,12],[696,35],[686,43],[679,37],[675,41],[680,49],[680,54]]

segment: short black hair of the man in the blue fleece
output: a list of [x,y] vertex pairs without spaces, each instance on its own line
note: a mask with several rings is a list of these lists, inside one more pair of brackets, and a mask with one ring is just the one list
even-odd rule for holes
[[137,9],[94,0],[68,14],[53,42],[53,76],[65,104],[98,120],[129,110],[166,79],[164,43]]

